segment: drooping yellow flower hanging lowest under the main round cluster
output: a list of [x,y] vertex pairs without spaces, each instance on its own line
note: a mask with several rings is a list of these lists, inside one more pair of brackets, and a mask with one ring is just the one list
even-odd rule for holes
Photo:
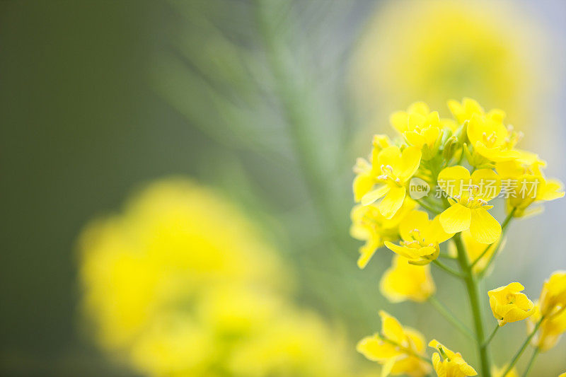
[[379,289],[393,303],[405,300],[423,302],[434,294],[436,286],[429,265],[411,265],[407,258],[395,255],[393,266],[381,277]]

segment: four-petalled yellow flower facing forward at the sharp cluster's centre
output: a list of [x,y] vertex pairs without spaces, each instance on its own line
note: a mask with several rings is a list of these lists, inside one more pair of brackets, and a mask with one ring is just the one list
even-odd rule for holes
[[440,214],[440,224],[446,233],[470,229],[479,243],[494,243],[501,235],[501,225],[487,211],[487,205],[501,189],[497,174],[490,169],[475,170],[470,176],[463,166],[445,168],[438,184],[449,196],[451,207]]

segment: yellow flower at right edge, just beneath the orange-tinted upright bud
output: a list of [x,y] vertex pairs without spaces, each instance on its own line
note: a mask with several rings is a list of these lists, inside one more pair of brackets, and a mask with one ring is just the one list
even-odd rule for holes
[[[536,313],[527,320],[527,332],[529,333],[534,330],[536,324],[542,318],[539,308],[540,306],[537,305]],[[545,318],[541,326],[538,327],[533,340],[531,340],[531,345],[538,347],[542,352],[548,351],[558,343],[564,332],[566,332],[566,310],[559,311],[555,315]]]

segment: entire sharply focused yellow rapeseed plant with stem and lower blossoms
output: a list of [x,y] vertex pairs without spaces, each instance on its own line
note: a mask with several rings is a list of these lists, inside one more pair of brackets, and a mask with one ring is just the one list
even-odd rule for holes
[[[511,377],[529,343],[534,354],[553,347],[566,330],[566,273],[555,272],[538,303],[514,282],[488,292],[497,320],[490,335],[484,328],[479,282],[504,246],[512,219],[540,211],[536,204],[565,195],[562,183],[543,173],[536,153],[517,148],[521,132],[504,122],[502,110],[484,111],[470,98],[448,103],[453,119],[442,119],[424,103],[391,115],[397,137],[376,135],[369,159],[358,158],[353,190],[351,233],[364,240],[358,265],[366,267],[385,246],[395,253],[381,278],[381,293],[391,302],[429,301],[457,330],[473,338],[482,376]],[[495,199],[504,199],[506,218],[490,214]],[[446,250],[444,252],[443,250]],[[474,319],[473,331],[434,297],[430,265],[466,283]],[[485,298],[487,300],[487,298]],[[366,337],[359,352],[382,364],[382,375],[475,376],[459,353],[436,340],[428,359],[420,332],[401,326],[381,312],[382,332]],[[493,366],[488,344],[497,329],[527,319],[529,337],[512,361]],[[531,359],[528,373],[532,366]],[[526,375],[526,374],[525,374]]]

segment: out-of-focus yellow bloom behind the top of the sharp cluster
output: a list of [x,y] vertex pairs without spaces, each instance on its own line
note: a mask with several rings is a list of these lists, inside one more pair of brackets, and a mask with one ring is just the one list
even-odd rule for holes
[[[470,96],[507,109],[524,128],[545,78],[543,42],[516,4],[388,1],[376,7],[352,66],[354,91],[374,120],[414,100],[443,108]],[[378,109],[378,110],[376,110]]]

